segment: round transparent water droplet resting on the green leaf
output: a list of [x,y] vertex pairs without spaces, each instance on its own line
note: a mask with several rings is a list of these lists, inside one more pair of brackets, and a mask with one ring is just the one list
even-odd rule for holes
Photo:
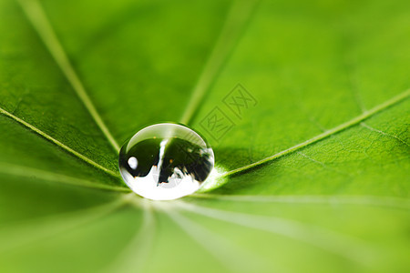
[[212,148],[189,127],[162,123],[145,127],[121,148],[119,172],[134,192],[171,200],[197,191],[214,166]]

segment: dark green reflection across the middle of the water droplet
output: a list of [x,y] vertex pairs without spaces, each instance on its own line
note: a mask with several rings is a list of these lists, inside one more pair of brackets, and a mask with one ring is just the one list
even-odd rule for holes
[[[204,181],[210,174],[212,163],[207,149],[181,138],[170,138],[165,146],[162,158],[159,158],[160,143],[163,138],[150,138],[137,143],[126,153],[124,146],[119,156],[119,166],[126,167],[133,177],[146,177],[151,167],[162,165],[159,170],[159,184],[168,183],[169,177],[178,168],[184,175],[190,175],[195,180]],[[136,157],[136,169],[129,167],[128,159]],[[161,161],[162,160],[162,161]],[[178,173],[176,173],[178,175]]]

